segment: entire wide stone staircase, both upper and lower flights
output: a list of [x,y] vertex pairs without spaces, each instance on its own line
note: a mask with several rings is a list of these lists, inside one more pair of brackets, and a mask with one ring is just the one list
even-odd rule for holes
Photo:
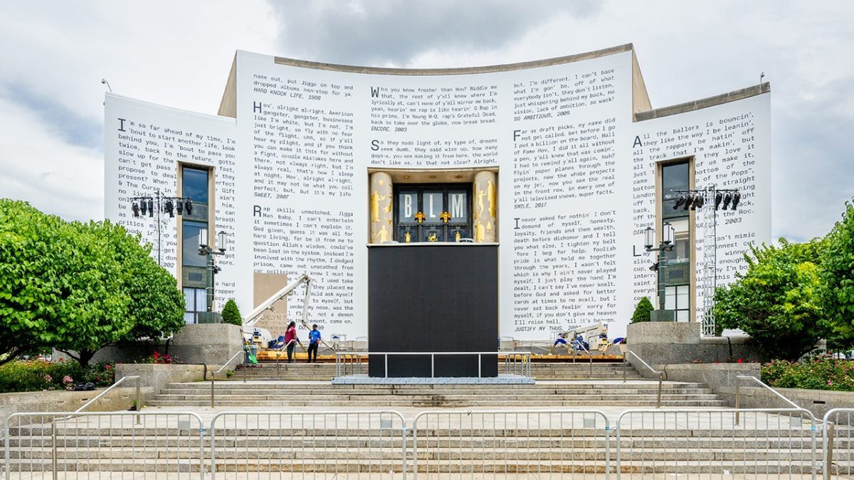
[[[332,385],[334,365],[256,366],[245,381],[237,372],[214,383],[213,411],[210,382],[196,382],[163,389],[138,424],[128,413],[16,420],[9,466],[158,477],[209,472],[213,463],[230,474],[341,478],[404,469],[440,477],[792,477],[820,468],[823,427],[810,419],[749,411],[736,419],[704,385],[670,381],[657,409],[657,380],[629,369],[623,382],[622,363],[594,363],[593,378],[590,368],[533,364],[534,385]],[[388,412],[400,407],[413,408],[401,408],[402,417]],[[623,413],[629,408],[638,411]],[[185,411],[202,415],[202,424]],[[834,471],[852,471],[851,438],[838,425]]]

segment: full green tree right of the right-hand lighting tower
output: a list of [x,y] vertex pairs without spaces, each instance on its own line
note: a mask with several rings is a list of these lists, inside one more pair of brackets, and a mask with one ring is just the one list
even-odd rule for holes
[[750,335],[770,359],[798,360],[830,331],[822,309],[817,262],[825,242],[752,246],[747,272],[715,292],[715,318],[722,328]]

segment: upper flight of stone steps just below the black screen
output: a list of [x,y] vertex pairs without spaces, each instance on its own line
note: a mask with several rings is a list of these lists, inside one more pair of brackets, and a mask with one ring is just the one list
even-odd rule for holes
[[[216,407],[655,407],[658,380],[622,363],[533,363],[526,384],[330,384],[334,364],[260,364],[213,387]],[[623,382],[623,375],[626,381]],[[324,382],[320,382],[324,381]],[[210,383],[172,383],[149,407],[209,407]],[[700,383],[665,381],[661,405],[722,407]]]

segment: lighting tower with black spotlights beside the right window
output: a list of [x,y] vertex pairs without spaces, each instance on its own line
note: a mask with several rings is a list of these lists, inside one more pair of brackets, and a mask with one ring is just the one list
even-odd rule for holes
[[[715,290],[717,289],[717,210],[735,210],[741,201],[739,190],[718,189],[712,184],[700,190],[674,190],[679,194],[673,209],[683,208],[708,212],[703,215],[703,266],[700,271],[700,321],[703,324],[703,336],[715,337]],[[707,207],[705,207],[708,204]],[[704,210],[705,207],[705,210]]]

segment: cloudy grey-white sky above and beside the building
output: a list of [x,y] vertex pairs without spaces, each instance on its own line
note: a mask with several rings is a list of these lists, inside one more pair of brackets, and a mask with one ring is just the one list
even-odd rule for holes
[[[472,67],[633,43],[653,107],[771,83],[773,234],[854,195],[854,2],[18,2],[0,8],[0,197],[103,217],[103,92],[215,114],[237,49]],[[688,6],[686,6],[688,5]]]

